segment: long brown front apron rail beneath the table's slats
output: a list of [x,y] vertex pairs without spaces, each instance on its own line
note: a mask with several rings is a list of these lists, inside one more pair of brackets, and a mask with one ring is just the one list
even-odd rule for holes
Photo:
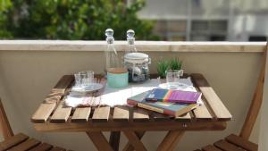
[[[185,126],[187,124],[187,127]],[[66,122],[34,123],[38,131],[119,131],[119,130],[224,130],[226,122]]]

